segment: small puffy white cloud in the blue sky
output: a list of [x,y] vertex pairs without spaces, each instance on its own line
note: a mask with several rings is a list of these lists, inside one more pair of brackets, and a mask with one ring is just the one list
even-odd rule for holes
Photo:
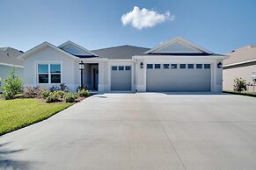
[[174,20],[175,16],[170,12],[165,14],[159,14],[157,11],[150,11],[143,8],[142,10],[135,6],[133,11],[129,11],[121,16],[121,22],[123,25],[132,25],[136,29],[143,29],[147,27],[153,27],[157,24],[163,23],[167,20]]

